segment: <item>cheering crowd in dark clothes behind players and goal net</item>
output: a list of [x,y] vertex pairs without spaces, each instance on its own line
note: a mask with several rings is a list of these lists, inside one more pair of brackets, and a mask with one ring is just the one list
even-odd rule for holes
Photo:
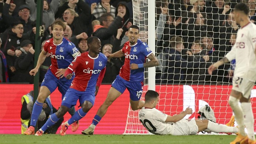
[[[120,50],[133,24],[132,0],[44,0],[41,42],[52,38],[51,23],[67,24],[64,37],[79,51],[88,50],[87,38],[101,40],[101,52]],[[156,0],[157,83],[230,82],[235,61],[212,75],[207,68],[231,50],[239,28],[232,9],[239,2],[250,7],[256,21],[255,0]],[[33,83],[37,0],[0,0],[0,82]],[[145,5],[146,3],[142,3]],[[1,7],[3,5],[3,7]],[[47,60],[48,59],[48,60]],[[50,66],[50,57],[40,67],[40,81]],[[112,83],[123,58],[108,59],[103,83]]]

